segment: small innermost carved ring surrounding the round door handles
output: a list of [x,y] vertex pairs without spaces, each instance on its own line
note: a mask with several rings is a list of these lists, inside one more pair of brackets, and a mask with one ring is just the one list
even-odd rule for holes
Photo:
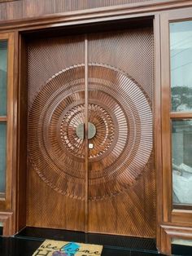
[[[76,135],[76,127],[84,123],[84,115],[85,104],[76,105],[66,113],[60,126],[60,137],[63,145],[74,156],[81,158],[85,157],[85,145],[84,140]],[[96,135],[90,141],[94,145],[100,145],[90,152],[89,159],[91,159],[99,157],[107,151],[114,139],[115,127],[107,111],[96,104],[89,104],[89,117],[94,121],[96,128]],[[53,129],[56,131],[58,127],[55,126]]]

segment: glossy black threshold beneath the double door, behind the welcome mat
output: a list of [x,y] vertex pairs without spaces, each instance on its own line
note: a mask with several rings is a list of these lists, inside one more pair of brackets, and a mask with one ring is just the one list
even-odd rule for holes
[[123,249],[128,251],[158,254],[155,239],[152,238],[116,236],[98,233],[85,234],[85,232],[75,232],[44,227],[25,227],[21,232],[16,234],[15,237],[41,241],[44,241],[45,239],[74,241],[85,244],[103,245],[108,249]]

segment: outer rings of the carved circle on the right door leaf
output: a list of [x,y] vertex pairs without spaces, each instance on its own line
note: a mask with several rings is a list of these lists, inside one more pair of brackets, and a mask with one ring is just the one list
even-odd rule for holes
[[[149,97],[126,73],[89,64],[89,77],[89,102],[106,109],[114,125],[107,152],[89,159],[89,199],[95,200],[116,195],[137,181],[151,156],[153,121]],[[91,114],[89,121],[94,122]]]

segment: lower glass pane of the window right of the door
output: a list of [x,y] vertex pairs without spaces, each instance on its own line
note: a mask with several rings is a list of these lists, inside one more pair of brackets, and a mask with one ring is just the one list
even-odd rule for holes
[[192,119],[172,121],[172,201],[192,204]]

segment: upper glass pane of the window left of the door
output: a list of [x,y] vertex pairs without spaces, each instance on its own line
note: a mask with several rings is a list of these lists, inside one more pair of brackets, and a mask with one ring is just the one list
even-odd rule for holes
[[0,41],[0,116],[7,115],[7,40]]

